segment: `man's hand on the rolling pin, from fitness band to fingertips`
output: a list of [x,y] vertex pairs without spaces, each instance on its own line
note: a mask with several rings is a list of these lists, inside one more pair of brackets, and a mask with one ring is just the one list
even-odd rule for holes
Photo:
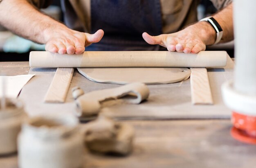
[[148,44],[159,44],[168,51],[198,53],[214,43],[216,33],[207,22],[199,22],[176,33],[151,36],[145,32],[142,37]]

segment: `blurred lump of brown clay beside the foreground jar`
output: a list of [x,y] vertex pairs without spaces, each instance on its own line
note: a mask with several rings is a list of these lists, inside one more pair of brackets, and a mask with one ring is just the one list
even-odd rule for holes
[[90,151],[127,155],[132,151],[133,128],[100,116],[87,124],[85,144]]

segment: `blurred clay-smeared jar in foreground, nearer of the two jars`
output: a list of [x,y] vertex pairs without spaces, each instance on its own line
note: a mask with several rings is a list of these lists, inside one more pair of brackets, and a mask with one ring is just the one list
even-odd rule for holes
[[79,168],[83,164],[83,135],[74,116],[34,117],[18,137],[20,168]]

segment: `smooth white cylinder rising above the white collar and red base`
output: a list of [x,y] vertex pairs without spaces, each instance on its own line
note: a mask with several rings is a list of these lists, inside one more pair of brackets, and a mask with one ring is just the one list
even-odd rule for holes
[[234,33],[234,89],[256,96],[256,0],[234,0]]

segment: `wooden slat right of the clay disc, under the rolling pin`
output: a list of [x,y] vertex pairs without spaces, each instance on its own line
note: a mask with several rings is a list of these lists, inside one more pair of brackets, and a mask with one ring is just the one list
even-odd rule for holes
[[213,105],[206,68],[190,68],[191,99],[193,105]]

